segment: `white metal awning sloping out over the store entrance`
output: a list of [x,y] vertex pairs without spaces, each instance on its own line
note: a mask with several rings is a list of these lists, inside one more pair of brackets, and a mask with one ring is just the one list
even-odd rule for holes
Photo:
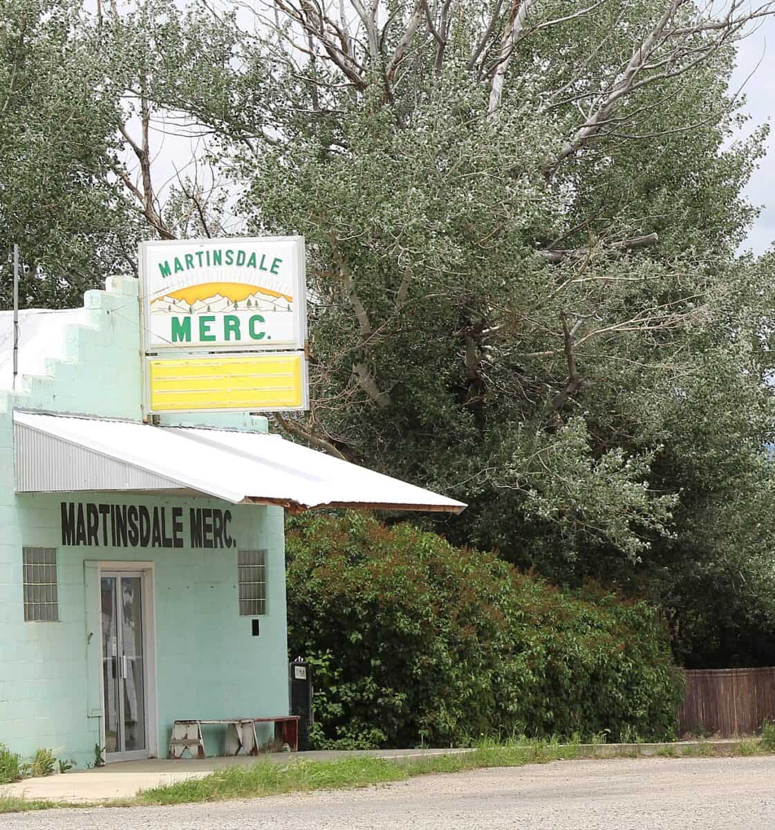
[[13,422],[17,492],[194,492],[290,510],[465,509],[277,435],[18,411]]

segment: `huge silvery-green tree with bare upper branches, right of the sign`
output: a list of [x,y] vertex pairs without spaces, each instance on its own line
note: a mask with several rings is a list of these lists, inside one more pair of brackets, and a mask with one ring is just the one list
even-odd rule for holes
[[[775,657],[773,302],[736,255],[764,133],[733,140],[728,84],[773,3],[714,8],[151,0],[81,37],[147,233],[305,235],[312,404],[280,428],[468,501],[453,541],[656,599],[682,659],[747,662]],[[167,206],[154,118],[215,171]]]

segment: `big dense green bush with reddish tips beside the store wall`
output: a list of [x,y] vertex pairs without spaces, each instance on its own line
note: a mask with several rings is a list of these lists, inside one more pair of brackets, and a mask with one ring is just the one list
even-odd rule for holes
[[290,651],[318,748],[480,735],[673,735],[680,679],[646,603],[346,513],[289,521]]

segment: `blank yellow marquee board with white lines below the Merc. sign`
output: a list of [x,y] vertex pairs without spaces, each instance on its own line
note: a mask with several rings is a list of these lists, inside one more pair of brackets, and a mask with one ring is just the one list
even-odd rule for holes
[[145,369],[149,413],[308,408],[301,352],[148,358]]

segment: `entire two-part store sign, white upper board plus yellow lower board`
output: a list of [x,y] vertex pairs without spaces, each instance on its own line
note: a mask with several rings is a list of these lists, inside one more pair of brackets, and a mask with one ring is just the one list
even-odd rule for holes
[[303,237],[140,245],[148,413],[308,406]]

